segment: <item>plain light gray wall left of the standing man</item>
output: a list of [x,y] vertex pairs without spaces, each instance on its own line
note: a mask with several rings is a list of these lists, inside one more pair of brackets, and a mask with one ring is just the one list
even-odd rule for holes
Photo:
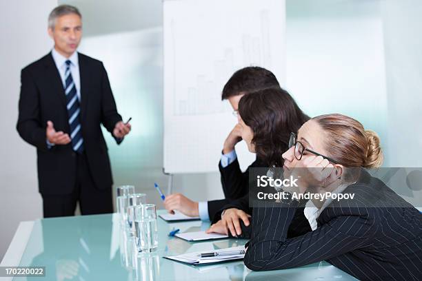
[[48,13],[57,0],[0,1],[1,196],[0,258],[20,221],[41,217],[34,147],[17,134],[21,68],[51,48]]

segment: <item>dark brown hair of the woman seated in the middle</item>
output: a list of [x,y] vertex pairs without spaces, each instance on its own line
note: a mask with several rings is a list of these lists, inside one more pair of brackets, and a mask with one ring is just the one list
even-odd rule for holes
[[268,167],[283,166],[281,154],[288,150],[290,133],[310,119],[281,88],[246,94],[239,101],[239,114],[254,133],[257,158]]

